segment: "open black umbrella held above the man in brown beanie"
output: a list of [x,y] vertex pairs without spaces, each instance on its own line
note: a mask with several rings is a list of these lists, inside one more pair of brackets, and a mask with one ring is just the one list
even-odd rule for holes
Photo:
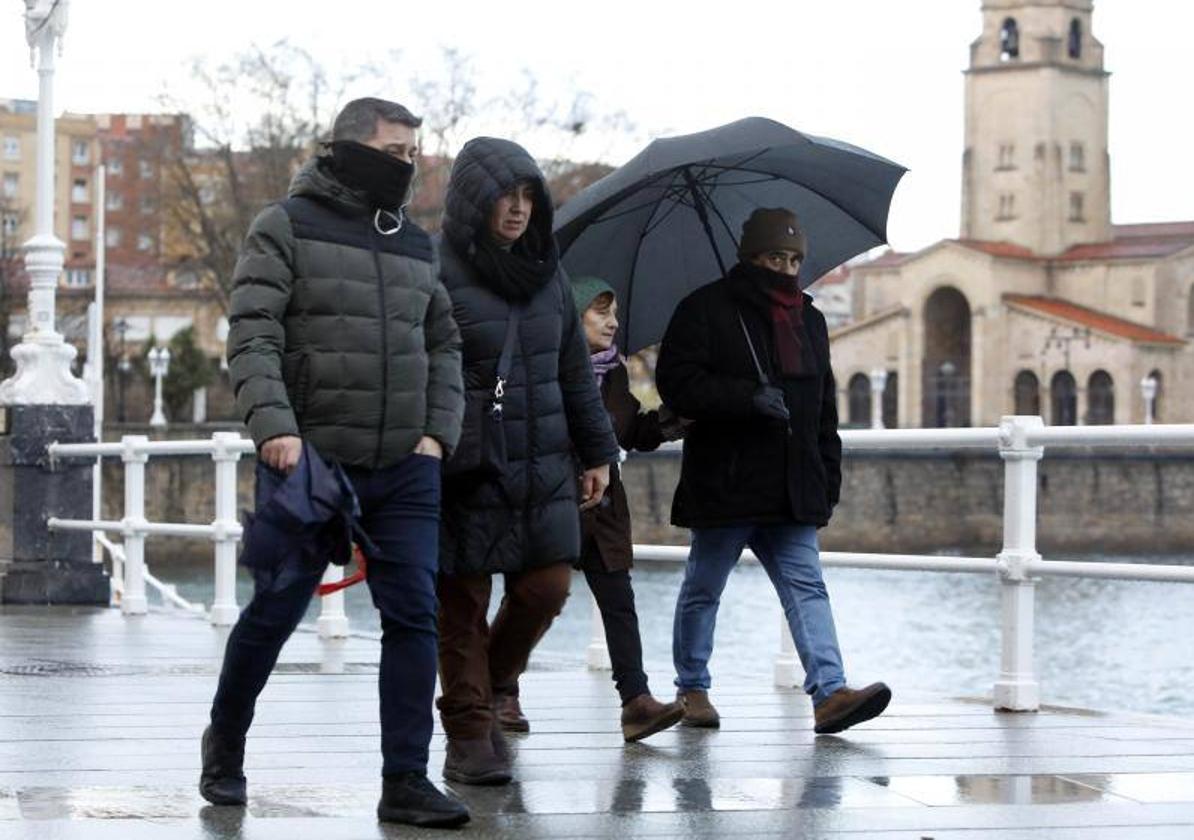
[[849,143],[762,117],[653,141],[556,214],[573,276],[614,286],[621,346],[663,338],[690,291],[737,261],[737,237],[756,208],[788,208],[808,237],[807,286],[887,241],[887,211],[906,169]]

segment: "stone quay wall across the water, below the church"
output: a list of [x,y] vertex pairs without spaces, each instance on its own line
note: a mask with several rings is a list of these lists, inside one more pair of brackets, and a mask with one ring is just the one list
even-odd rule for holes
[[[1040,462],[1042,552],[1194,552],[1194,453],[1055,450]],[[842,504],[821,531],[838,551],[993,555],[1003,529],[997,455],[858,453],[843,468]],[[622,467],[634,539],[688,542],[669,525],[679,457],[651,453]]]

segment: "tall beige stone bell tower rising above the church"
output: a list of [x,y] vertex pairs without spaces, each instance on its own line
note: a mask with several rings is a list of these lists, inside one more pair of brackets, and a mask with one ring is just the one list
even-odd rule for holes
[[1108,73],[1093,0],[983,0],[966,69],[962,239],[1041,255],[1110,239]]

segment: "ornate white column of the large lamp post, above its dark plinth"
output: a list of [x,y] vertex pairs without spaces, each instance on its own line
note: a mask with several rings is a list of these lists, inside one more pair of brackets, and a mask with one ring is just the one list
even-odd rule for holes
[[87,406],[91,389],[70,371],[75,348],[55,328],[55,291],[66,245],[54,235],[54,54],[62,48],[68,0],[25,0],[25,39],[36,57],[37,212],[25,242],[29,331],[12,348],[17,372],[0,383],[0,404]]

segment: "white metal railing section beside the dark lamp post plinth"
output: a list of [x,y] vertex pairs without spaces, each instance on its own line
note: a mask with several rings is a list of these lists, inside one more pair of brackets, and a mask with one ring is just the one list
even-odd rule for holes
[[[152,536],[210,539],[214,545],[215,587],[210,609],[205,610],[211,623],[228,626],[236,622],[236,544],[241,526],[236,520],[236,465],[241,456],[254,452],[253,441],[235,432],[216,432],[201,440],[149,440],[143,434],[128,434],[119,443],[50,444],[51,464],[57,458],[115,458],[124,462],[124,515],[118,520],[49,519],[47,526],[56,531],[91,531],[112,557],[113,595],[127,616],[144,614],[148,610],[146,585],[162,598],[189,611],[203,612],[178,594],[176,587],[155,578],[146,568],[144,543]],[[150,523],[146,519],[146,464],[150,457],[209,456],[215,468],[215,519],[209,524]],[[105,532],[119,532],[124,542],[113,544]],[[330,566],[325,581],[343,578],[343,570]],[[320,635],[343,637],[349,632],[344,612],[344,593],[322,599],[318,622]]]

